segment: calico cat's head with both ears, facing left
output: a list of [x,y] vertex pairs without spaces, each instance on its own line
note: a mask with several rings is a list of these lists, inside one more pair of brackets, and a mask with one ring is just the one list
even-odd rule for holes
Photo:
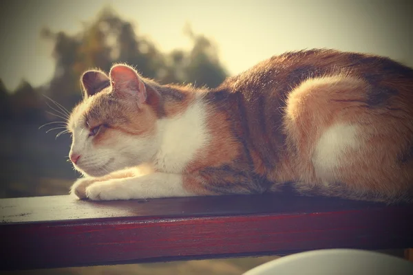
[[[115,65],[81,76],[84,99],[70,115],[70,159],[81,173],[102,176],[148,162],[158,150],[160,96],[135,69]],[[150,91],[149,91],[150,90]]]

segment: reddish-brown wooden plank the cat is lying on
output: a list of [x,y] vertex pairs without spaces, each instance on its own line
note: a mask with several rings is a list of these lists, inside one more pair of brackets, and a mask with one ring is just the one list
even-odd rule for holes
[[413,246],[413,205],[252,195],[0,200],[1,270]]

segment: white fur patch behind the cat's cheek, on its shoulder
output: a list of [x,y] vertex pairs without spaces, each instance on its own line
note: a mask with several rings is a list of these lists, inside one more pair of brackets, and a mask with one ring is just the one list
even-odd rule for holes
[[160,150],[155,166],[167,173],[181,173],[200,149],[210,140],[206,125],[207,113],[204,103],[196,102],[175,118],[158,121]]

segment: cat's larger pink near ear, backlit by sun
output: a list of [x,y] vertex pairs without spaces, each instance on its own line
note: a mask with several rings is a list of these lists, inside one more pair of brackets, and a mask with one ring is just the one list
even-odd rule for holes
[[122,98],[134,97],[142,104],[147,99],[145,83],[138,72],[128,65],[114,65],[109,72],[112,92]]

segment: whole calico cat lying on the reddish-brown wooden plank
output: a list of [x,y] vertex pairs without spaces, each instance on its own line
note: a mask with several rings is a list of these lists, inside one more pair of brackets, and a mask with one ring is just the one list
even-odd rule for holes
[[70,192],[116,200],[277,192],[397,203],[413,195],[413,69],[329,49],[286,52],[216,89],[134,67],[81,76]]

